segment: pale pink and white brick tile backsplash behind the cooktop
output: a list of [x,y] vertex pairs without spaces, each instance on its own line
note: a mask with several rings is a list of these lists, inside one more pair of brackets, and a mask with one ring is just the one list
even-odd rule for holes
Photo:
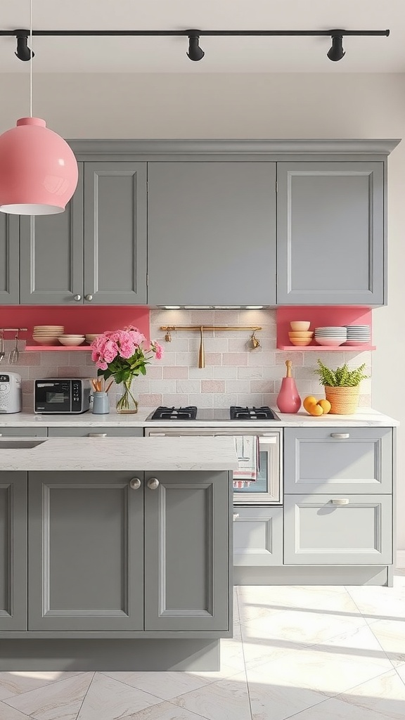
[[[199,333],[195,330],[172,331],[166,343],[161,325],[261,325],[257,337],[262,348],[252,350],[252,332],[208,330],[205,333],[205,368],[197,368]],[[285,360],[293,361],[293,375],[301,397],[324,395],[314,374],[316,359],[326,365],[347,362],[357,366],[365,362],[371,374],[371,353],[337,351],[319,353],[276,350],[275,310],[151,310],[151,338],[165,350],[161,361],[153,361],[146,377],[137,380],[140,405],[198,405],[200,408],[226,408],[228,405],[275,405],[280,382],[285,375]],[[13,341],[6,341],[6,357]],[[20,343],[22,350],[22,342]],[[90,353],[50,351],[21,352],[18,364],[1,363],[1,372],[18,372],[22,376],[23,405],[31,410],[33,380],[40,377],[95,377],[96,369]],[[112,391],[114,387],[112,387]],[[371,380],[362,382],[360,405],[371,405]],[[115,402],[115,392],[110,392]]]

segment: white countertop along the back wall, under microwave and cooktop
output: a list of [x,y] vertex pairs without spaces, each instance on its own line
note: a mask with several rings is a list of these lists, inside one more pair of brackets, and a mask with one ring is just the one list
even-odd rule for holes
[[302,428],[302,427],[397,427],[398,420],[378,413],[372,408],[360,408],[355,415],[321,415],[320,418],[313,418],[305,410],[300,410],[295,415],[285,415],[277,408],[273,408],[280,422],[269,420],[249,420],[246,423],[239,423],[235,420],[146,420],[153,408],[140,408],[136,415],[118,415],[115,412],[108,415],[93,415],[83,413],[81,415],[35,415],[35,413],[13,413],[12,415],[0,414],[0,433],[2,427],[9,428],[35,428],[38,426],[48,428],[237,428],[238,426],[249,426],[249,428]]

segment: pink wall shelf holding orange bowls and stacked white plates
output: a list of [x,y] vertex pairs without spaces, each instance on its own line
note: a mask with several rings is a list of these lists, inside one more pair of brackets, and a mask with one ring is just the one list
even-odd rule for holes
[[311,323],[310,329],[320,328],[324,325],[370,325],[370,333],[372,330],[372,314],[369,307],[353,307],[330,306],[321,307],[313,306],[291,306],[278,307],[276,310],[277,323],[277,349],[288,352],[362,352],[365,350],[375,350],[375,345],[371,343],[360,343],[359,345],[318,345],[314,341],[311,345],[291,345],[288,332],[290,330],[291,320],[307,320]]

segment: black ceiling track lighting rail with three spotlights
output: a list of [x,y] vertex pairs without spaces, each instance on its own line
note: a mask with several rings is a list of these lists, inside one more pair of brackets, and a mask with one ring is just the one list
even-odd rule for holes
[[[32,30],[33,37],[188,37],[188,57],[202,60],[205,53],[200,48],[200,37],[331,37],[332,46],[327,53],[329,60],[341,60],[344,56],[343,37],[384,36],[389,30]],[[30,60],[27,46],[29,30],[0,30],[0,37],[16,37],[19,60]],[[33,55],[33,53],[32,53]]]

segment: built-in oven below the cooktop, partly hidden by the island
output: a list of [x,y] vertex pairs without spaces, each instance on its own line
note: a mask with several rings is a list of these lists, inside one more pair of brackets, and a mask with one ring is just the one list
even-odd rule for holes
[[[235,428],[236,430],[236,428]],[[146,436],[220,436],[234,438],[257,437],[259,445],[259,471],[257,480],[246,483],[245,487],[233,488],[234,505],[281,505],[282,504],[282,432],[252,428],[238,423],[237,431],[229,428],[146,428]]]

